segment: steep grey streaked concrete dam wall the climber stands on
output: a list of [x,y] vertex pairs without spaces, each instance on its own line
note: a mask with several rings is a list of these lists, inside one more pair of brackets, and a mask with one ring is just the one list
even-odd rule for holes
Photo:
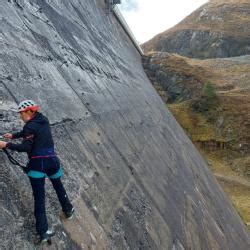
[[[1,133],[22,128],[23,99],[50,119],[76,208],[62,221],[46,181],[49,249],[250,249],[103,0],[0,0]],[[0,249],[34,249],[34,227],[29,180],[0,152]]]

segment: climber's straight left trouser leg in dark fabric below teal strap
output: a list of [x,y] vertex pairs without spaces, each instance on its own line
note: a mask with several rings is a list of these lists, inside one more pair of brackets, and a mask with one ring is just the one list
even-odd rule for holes
[[48,230],[45,210],[45,178],[29,177],[34,196],[34,215],[36,218],[36,231],[42,236]]

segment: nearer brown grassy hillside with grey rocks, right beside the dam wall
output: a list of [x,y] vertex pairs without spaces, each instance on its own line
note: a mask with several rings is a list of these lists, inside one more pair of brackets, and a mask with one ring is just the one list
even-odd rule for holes
[[[250,224],[250,56],[198,60],[156,52],[143,61],[154,87]],[[194,103],[202,100],[208,81],[219,101],[200,112]]]

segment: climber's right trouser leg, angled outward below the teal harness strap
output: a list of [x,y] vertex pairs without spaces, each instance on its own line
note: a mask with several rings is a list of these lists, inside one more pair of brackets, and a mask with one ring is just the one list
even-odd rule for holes
[[62,210],[64,213],[67,213],[73,209],[72,204],[69,201],[68,195],[64,189],[64,186],[61,182],[61,177],[58,178],[50,178],[52,185],[56,191],[58,200],[62,206]]

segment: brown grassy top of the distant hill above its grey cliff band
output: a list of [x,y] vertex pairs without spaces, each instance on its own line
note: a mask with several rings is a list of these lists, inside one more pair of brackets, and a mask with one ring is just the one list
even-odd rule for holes
[[[172,29],[163,34],[180,30],[222,32],[223,34],[248,37],[250,35],[250,15],[243,11],[250,9],[249,1],[212,1],[203,9],[198,9]],[[203,10],[203,11],[201,11]]]

